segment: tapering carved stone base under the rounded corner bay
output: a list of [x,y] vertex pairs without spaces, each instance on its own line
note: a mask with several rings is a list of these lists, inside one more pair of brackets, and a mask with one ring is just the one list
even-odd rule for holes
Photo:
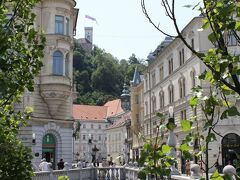
[[66,76],[41,76],[39,79],[40,95],[47,104],[51,116],[55,116],[59,107],[72,94],[71,81]]

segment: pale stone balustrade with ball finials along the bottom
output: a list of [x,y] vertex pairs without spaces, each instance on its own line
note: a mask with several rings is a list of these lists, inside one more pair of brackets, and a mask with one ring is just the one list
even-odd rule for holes
[[[191,168],[191,176],[186,175],[171,175],[173,180],[199,179],[199,167]],[[49,172],[35,172],[32,180],[58,180],[60,176],[67,176],[70,180],[139,180],[138,167],[116,166],[116,167],[88,167],[76,168],[69,170],[55,170]],[[236,169],[227,165],[223,169],[224,174],[228,174],[232,178],[237,173]],[[210,174],[211,176],[211,174]],[[146,180],[151,180],[149,176]],[[155,178],[154,178],[155,179]],[[166,177],[166,179],[168,179]]]

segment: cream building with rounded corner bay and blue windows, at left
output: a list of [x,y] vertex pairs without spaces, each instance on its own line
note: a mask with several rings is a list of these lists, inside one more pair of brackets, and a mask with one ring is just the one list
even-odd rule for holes
[[23,103],[16,108],[32,106],[34,112],[20,139],[32,149],[37,166],[44,157],[53,163],[63,158],[73,160],[73,36],[78,9],[74,0],[42,0],[33,11],[36,28],[46,37],[43,67],[35,78],[34,92],[25,92]]

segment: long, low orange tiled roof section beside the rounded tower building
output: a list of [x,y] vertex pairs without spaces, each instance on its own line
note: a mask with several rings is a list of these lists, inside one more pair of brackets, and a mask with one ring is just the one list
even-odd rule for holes
[[75,120],[104,120],[107,115],[107,107],[90,105],[73,105],[73,118]]

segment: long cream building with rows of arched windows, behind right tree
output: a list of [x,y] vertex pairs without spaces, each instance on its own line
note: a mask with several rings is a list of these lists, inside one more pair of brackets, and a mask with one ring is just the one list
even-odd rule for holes
[[[206,52],[212,45],[207,39],[209,32],[199,31],[201,26],[202,18],[195,17],[184,27],[182,34],[196,51]],[[229,48],[233,52],[239,53],[240,48],[239,45],[237,46],[236,40],[232,36],[229,39],[231,39]],[[191,89],[194,86],[201,85],[206,89],[209,88],[208,84],[196,78],[205,69],[205,65],[187,49],[180,39],[166,38],[154,53],[150,54],[148,69],[144,74],[143,90],[143,126],[146,136],[156,137],[156,125],[159,125],[160,119],[155,114],[156,112],[168,114],[169,106],[174,107],[178,145],[185,137],[181,131],[180,121],[193,115],[196,115],[197,119],[201,121],[203,114],[200,106],[197,109],[192,109],[188,101],[191,97]],[[133,96],[141,94],[141,92],[136,92],[135,89],[134,87]],[[139,108],[141,109],[141,106]],[[137,110],[134,110],[134,112],[138,114]],[[221,121],[218,125],[217,131],[223,137],[217,137],[217,142],[210,146],[210,164],[216,162],[218,152],[220,152],[220,165],[226,165],[228,159],[233,160],[236,155],[231,154],[232,151],[240,153],[240,123],[237,119],[238,117]],[[165,123],[166,121],[167,119],[165,119]],[[134,142],[134,144],[137,144],[137,142]],[[179,157],[181,156],[179,155]],[[179,164],[183,165],[184,161],[180,158]]]

